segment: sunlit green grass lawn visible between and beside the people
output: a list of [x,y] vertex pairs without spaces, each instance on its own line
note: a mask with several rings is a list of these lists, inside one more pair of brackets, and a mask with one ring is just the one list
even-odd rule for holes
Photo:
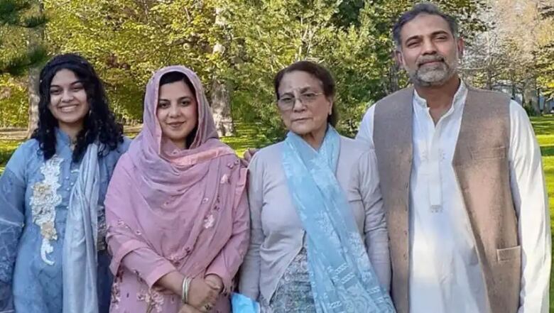
[[[554,225],[554,116],[533,117],[531,122],[541,145],[550,201],[550,225]],[[238,123],[236,126],[237,136],[223,138],[223,141],[237,151],[238,155],[242,155],[246,148],[261,147],[270,143],[263,131],[255,125]],[[131,133],[131,136],[134,134]],[[6,162],[19,143],[20,141],[0,141],[0,172],[4,171]],[[550,275],[550,312],[554,312],[554,275]]]

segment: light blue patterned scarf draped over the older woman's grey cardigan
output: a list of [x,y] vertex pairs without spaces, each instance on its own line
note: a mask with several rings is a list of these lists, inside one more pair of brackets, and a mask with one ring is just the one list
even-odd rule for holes
[[332,126],[327,127],[319,151],[292,132],[283,148],[288,190],[307,233],[317,313],[395,312],[335,177],[339,150],[340,136]]

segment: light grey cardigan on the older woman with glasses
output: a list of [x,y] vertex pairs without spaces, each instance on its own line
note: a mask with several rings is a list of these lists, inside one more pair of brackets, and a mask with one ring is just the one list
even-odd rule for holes
[[[286,268],[303,246],[305,231],[281,165],[283,142],[259,150],[249,165],[251,241],[239,290],[270,300]],[[385,212],[374,150],[342,137],[337,179],[347,194],[359,233],[381,285],[389,290],[391,265]]]

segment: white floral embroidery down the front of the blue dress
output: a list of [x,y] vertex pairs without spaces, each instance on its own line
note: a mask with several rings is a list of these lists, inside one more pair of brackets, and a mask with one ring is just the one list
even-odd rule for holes
[[40,167],[44,180],[33,185],[33,195],[30,202],[33,223],[40,227],[40,234],[43,236],[40,258],[48,265],[54,265],[54,262],[47,258],[47,254],[54,250],[50,241],[58,240],[58,232],[55,229],[55,207],[62,203],[62,197],[58,194],[58,188],[60,188],[58,177],[60,176],[61,163],[62,159],[58,155],[54,155]]

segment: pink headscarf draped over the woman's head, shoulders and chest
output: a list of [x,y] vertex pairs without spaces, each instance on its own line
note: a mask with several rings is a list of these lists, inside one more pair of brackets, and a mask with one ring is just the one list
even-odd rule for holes
[[[197,133],[184,150],[162,138],[156,117],[160,79],[168,72],[185,74],[195,88]],[[217,138],[200,79],[186,67],[165,67],[153,75],[143,123],[116,166],[105,201],[112,272],[128,253],[146,247],[189,277],[203,275],[232,234],[246,169]]]

